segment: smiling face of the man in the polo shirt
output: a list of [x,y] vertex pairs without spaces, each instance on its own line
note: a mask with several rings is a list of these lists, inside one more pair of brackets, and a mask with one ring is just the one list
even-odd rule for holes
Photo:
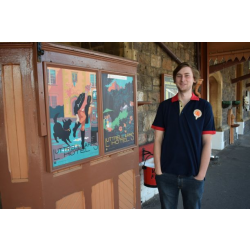
[[192,91],[194,76],[191,68],[184,67],[176,74],[175,84],[179,92],[185,93]]

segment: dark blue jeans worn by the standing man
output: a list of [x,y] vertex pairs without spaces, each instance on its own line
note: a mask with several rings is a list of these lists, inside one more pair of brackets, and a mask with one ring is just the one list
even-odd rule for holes
[[184,208],[201,208],[204,180],[198,181],[193,176],[166,173],[156,175],[155,180],[159,189],[161,208],[177,208],[180,190]]

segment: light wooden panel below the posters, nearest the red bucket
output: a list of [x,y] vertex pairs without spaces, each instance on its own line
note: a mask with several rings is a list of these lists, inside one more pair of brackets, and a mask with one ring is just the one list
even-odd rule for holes
[[135,180],[134,171],[129,170],[119,175],[119,208],[135,208]]

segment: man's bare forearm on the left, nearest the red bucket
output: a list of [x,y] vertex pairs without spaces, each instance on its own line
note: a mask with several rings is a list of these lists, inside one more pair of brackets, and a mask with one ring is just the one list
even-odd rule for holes
[[155,130],[155,142],[154,142],[154,162],[155,173],[161,175],[161,144],[164,137],[164,131]]

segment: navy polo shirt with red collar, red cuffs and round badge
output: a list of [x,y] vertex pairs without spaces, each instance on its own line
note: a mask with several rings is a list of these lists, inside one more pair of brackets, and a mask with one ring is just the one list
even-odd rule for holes
[[161,147],[162,172],[198,175],[202,135],[216,133],[210,103],[192,94],[180,112],[177,94],[160,103],[151,127],[165,131]]

